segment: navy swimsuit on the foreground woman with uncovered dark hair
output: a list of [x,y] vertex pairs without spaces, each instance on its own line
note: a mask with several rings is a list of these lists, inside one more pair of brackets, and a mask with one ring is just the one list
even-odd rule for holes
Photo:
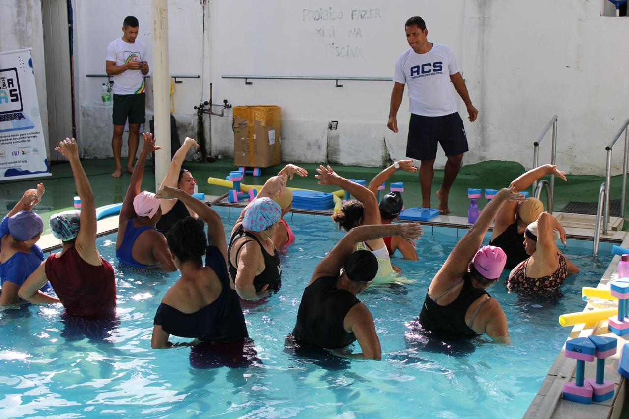
[[233,344],[248,338],[245,316],[240,308],[238,293],[231,289],[225,259],[217,247],[208,247],[205,264],[213,269],[223,287],[221,294],[208,306],[194,313],[182,313],[160,304],[153,324],[164,332],[185,338],[198,338],[209,344]]

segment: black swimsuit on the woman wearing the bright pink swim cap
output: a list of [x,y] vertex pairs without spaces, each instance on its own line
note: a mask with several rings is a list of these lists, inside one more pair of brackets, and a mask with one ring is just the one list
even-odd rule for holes
[[[438,299],[450,291],[450,289],[460,284],[461,281],[463,281],[461,293],[454,301],[452,301],[452,303],[447,306],[440,306],[437,304]],[[465,313],[467,313],[469,306],[484,294],[487,294],[491,298],[491,295],[489,295],[489,293],[487,293],[484,289],[474,288],[474,286],[472,286],[469,274],[465,274],[464,277],[455,282],[450,288],[434,300],[430,297],[430,294],[426,293],[426,298],[424,299],[424,304],[421,307],[420,313],[421,327],[432,332],[449,332],[457,333],[459,335],[476,336],[477,333],[474,332],[467,323],[465,323]],[[485,301],[488,299],[489,298]],[[485,301],[479,304],[476,311],[474,311],[474,314],[472,314],[470,325],[474,323],[474,318]]]

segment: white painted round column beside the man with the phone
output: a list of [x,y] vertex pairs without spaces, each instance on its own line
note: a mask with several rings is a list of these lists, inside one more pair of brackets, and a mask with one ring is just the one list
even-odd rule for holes
[[170,72],[168,67],[168,1],[153,0],[153,111],[155,113],[155,192],[170,165]]

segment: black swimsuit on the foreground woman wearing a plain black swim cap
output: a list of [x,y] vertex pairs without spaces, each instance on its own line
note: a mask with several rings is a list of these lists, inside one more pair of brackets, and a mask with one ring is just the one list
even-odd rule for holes
[[324,276],[304,289],[297,323],[292,335],[301,343],[322,348],[344,348],[356,340],[345,332],[343,321],[360,301],[345,289],[337,288],[335,276]]

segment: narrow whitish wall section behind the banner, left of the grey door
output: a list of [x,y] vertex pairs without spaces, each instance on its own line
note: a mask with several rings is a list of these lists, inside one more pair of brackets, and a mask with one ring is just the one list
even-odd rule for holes
[[50,161],[48,144],[48,108],[46,68],[44,65],[42,35],[42,3],[40,0],[0,1],[0,51],[33,48],[35,86],[42,118],[43,138]]

